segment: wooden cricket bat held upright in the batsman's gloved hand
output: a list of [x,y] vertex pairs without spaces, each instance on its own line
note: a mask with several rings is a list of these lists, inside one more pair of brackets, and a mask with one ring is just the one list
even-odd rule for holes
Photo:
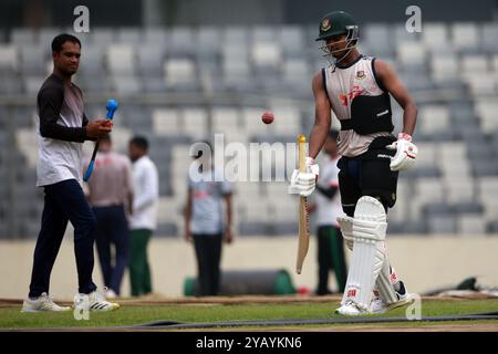
[[[299,170],[305,171],[307,158],[307,137],[302,134],[298,136],[299,148]],[[301,274],[302,263],[308,253],[310,246],[310,222],[308,217],[307,197],[299,197],[299,241],[298,241],[298,262],[295,264],[295,272]]]

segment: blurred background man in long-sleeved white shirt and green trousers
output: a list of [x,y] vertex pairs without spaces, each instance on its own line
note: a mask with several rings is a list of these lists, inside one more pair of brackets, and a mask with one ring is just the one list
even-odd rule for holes
[[134,200],[129,219],[129,280],[132,295],[152,293],[147,244],[157,226],[159,178],[156,165],[148,158],[148,142],[135,136],[128,145],[133,162]]

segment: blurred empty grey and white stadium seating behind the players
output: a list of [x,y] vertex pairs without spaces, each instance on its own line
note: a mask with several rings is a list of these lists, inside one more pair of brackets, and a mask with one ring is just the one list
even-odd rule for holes
[[[60,31],[13,29],[0,38],[0,94],[27,101],[0,105],[0,175],[8,181],[0,188],[3,238],[38,232],[34,95],[51,71],[50,41]],[[315,31],[314,25],[102,28],[81,35],[75,82],[85,95],[102,97],[87,101],[87,115],[104,114],[102,102],[115,95],[116,148],[126,152],[133,134],[151,139],[160,177],[157,233],[183,230],[193,142],[224,133],[227,144],[286,143],[309,132],[311,77],[326,65]],[[362,29],[362,51],[396,69],[419,107],[414,136],[419,157],[401,174],[391,232],[498,232],[497,38],[496,22],[426,23],[422,33],[408,33],[403,24]],[[393,105],[398,132],[402,110],[394,100]],[[276,114],[272,125],[260,122],[267,110]],[[3,134],[12,128],[15,153]],[[297,202],[286,183],[243,181],[234,189],[239,233],[295,232]]]

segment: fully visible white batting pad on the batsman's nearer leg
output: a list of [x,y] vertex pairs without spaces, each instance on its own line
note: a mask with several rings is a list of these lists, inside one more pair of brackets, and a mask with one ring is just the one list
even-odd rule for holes
[[354,248],[342,304],[354,302],[360,309],[369,309],[385,259],[386,229],[382,204],[372,197],[360,198],[354,211]]

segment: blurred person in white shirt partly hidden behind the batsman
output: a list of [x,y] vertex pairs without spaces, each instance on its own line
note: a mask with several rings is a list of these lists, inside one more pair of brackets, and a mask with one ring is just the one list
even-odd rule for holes
[[344,243],[338,217],[345,216],[341,206],[339,191],[338,160],[338,131],[330,131],[323,146],[323,164],[320,166],[320,175],[317,181],[315,204],[319,282],[318,295],[331,294],[329,289],[329,271],[335,273],[338,291],[344,292],[347,270],[344,258]]

